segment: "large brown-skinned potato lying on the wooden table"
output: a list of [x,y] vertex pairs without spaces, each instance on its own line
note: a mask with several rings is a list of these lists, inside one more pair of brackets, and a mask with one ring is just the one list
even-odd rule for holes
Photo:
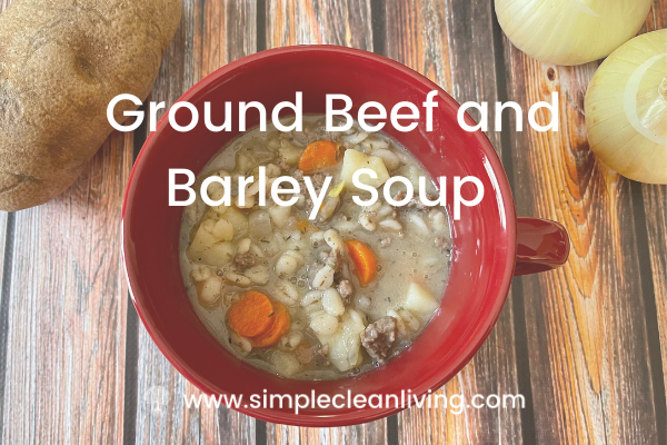
[[[0,14],[0,210],[67,189],[112,130],[109,101],[143,100],[180,0],[16,0]],[[137,106],[123,100],[115,110]]]

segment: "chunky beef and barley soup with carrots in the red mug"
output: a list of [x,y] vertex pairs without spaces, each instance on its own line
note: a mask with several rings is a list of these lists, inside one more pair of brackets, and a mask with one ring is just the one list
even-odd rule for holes
[[[293,119],[293,118],[292,118]],[[261,171],[266,184],[257,180]],[[369,168],[374,188],[407,178],[415,197],[392,207],[384,194],[360,206],[352,175]],[[326,131],[322,116],[306,116],[302,131],[247,131],[203,168],[195,187],[212,176],[230,178],[231,205],[201,197],[183,211],[180,261],[188,296],[207,329],[239,358],[285,377],[335,379],[380,366],[407,348],[439,307],[450,264],[449,219],[418,198],[437,189],[419,162],[388,136]],[[243,186],[239,177],[256,181]],[[267,192],[289,176],[300,192],[291,206]],[[330,177],[330,182],[327,182]],[[322,187],[317,217],[309,219]],[[291,189],[288,182],[280,184]],[[219,200],[227,188],[208,186]],[[406,198],[405,185],[390,197]],[[288,200],[290,195],[281,195]],[[431,196],[432,198],[432,196]]]

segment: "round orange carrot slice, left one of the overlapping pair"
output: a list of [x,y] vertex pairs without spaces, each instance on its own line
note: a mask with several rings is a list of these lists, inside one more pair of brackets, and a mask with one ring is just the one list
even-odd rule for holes
[[271,300],[257,290],[248,290],[229,308],[229,327],[241,337],[257,337],[271,328],[275,318]]

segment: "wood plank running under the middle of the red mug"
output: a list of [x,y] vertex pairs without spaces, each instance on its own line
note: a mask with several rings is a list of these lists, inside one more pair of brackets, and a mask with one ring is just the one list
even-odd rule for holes
[[[267,0],[267,48],[330,43],[372,50],[370,1]],[[267,425],[269,444],[384,444],[386,421],[342,428]]]

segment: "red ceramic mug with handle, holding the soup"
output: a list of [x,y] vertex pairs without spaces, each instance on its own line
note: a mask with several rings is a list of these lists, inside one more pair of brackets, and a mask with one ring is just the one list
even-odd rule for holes
[[[271,110],[303,93],[303,112],[325,111],[327,93],[352,99],[351,112],[366,101],[390,110],[399,101],[421,106],[437,90],[434,131],[425,117],[409,132],[385,127],[434,177],[476,176],[485,187],[477,206],[462,207],[451,221],[452,263],[440,308],[415,343],[386,365],[358,376],[330,382],[281,378],[236,358],[205,328],[190,306],[178,260],[182,207],[168,206],[169,168],[198,174],[211,157],[238,136],[210,132],[200,123],[178,132],[160,120],[135,164],[122,210],[123,254],[132,299],[148,333],[171,364],[208,394],[399,394],[422,395],[444,385],[472,357],[491,330],[507,298],[512,275],[548,270],[567,260],[569,240],[563,226],[518,218],[507,177],[482,132],[457,123],[458,103],[437,85],[411,69],[369,52],[330,46],[287,47],[229,63],[188,90],[179,100],[193,103],[200,117],[210,101],[213,122],[222,102],[257,100]],[[218,111],[216,111],[218,110]],[[421,109],[424,110],[424,109]],[[182,112],[181,112],[182,111]],[[218,117],[218,119],[216,118]],[[181,125],[189,111],[176,113]],[[467,119],[471,121],[470,117]],[[248,128],[259,123],[251,115]],[[466,190],[464,188],[464,195]],[[472,191],[470,191],[471,194]],[[470,197],[468,198],[470,199]],[[451,201],[451,199],[448,199]],[[451,205],[448,212],[452,215]],[[238,411],[268,422],[301,426],[337,426],[374,421],[398,408],[293,408],[240,406]]]

